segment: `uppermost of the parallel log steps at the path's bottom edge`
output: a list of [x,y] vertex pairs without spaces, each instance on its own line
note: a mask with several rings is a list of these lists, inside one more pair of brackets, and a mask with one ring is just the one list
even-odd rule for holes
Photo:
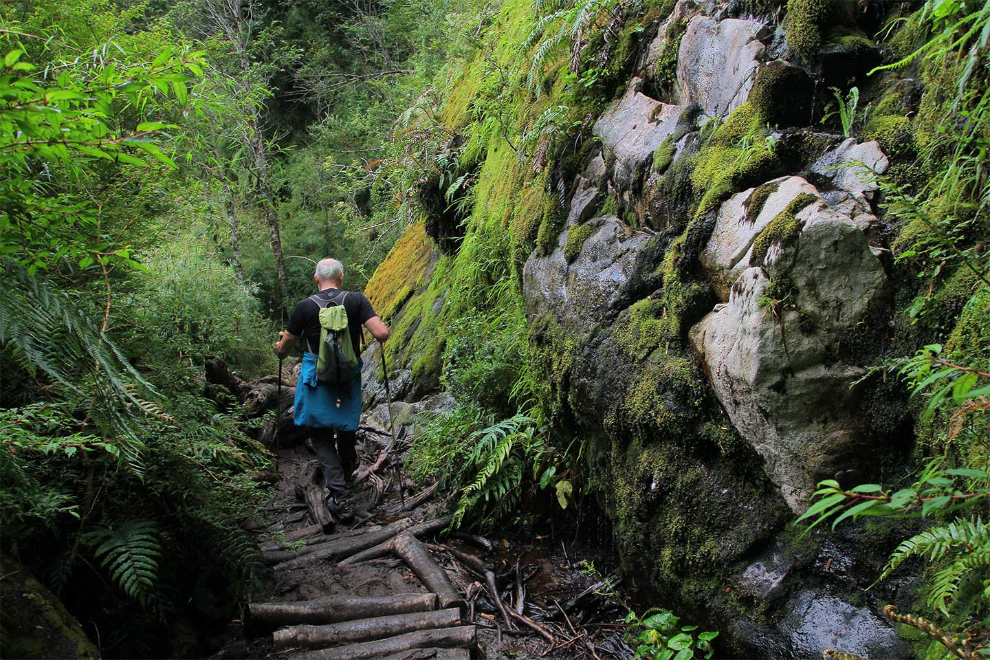
[[436,609],[436,594],[329,596],[318,601],[295,603],[248,603],[245,626],[251,631],[267,632],[296,623],[319,625],[386,614],[433,612]]

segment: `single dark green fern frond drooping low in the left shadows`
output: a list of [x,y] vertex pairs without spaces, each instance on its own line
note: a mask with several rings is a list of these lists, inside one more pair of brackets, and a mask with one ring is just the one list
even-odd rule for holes
[[96,557],[121,590],[145,608],[154,600],[161,544],[153,520],[130,520],[116,529],[98,528],[88,534],[100,542]]

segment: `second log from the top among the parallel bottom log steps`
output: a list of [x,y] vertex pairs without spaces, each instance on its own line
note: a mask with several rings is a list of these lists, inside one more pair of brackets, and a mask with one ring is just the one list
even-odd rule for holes
[[355,642],[394,637],[406,632],[434,630],[460,625],[456,608],[435,612],[387,614],[373,618],[358,618],[327,625],[291,625],[275,630],[272,640],[276,647],[325,648]]

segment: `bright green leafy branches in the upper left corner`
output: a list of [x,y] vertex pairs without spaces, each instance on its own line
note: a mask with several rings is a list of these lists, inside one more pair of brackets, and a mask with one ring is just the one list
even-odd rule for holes
[[153,118],[170,105],[162,99],[189,103],[203,52],[163,47],[148,61],[109,43],[95,48],[98,57],[46,61],[72,45],[52,32],[52,42],[29,39],[29,49],[17,27],[0,32],[0,255],[29,274],[62,259],[79,268],[135,266],[127,244],[101,234],[100,209],[84,186],[107,169],[174,167],[154,139],[176,127]]

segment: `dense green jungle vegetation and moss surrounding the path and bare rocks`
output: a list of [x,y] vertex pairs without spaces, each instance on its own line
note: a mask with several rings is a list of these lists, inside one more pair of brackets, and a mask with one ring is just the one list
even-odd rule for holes
[[[620,482],[623,502],[595,504],[606,477],[562,382],[576,339],[527,318],[523,267],[556,246],[564,181],[674,4],[5,3],[3,572],[30,570],[106,657],[215,650],[191,631],[222,637],[264,570],[244,525],[267,500],[252,476],[272,455],[254,439],[268,418],[246,421],[204,366],[219,355],[271,373],[275,331],[325,255],[393,326],[386,354],[413,392],[452,397],[416,419],[412,468],[442,481],[455,524],[581,524],[596,506],[626,522],[635,482]],[[785,26],[809,61],[834,18],[822,0],[730,4]],[[990,3],[860,4],[881,61],[830,91],[815,125],[890,157],[870,175],[897,313],[864,381],[898,402],[873,420],[905,434],[912,469],[897,483],[823,481],[800,526],[920,519],[898,528],[876,576],[917,578],[912,612],[888,618],[922,657],[972,659],[990,655]],[[673,85],[684,26],[669,30]],[[690,213],[655,273],[662,295],[622,320],[643,377],[603,424],[636,446],[649,424],[743,456],[686,342],[710,295],[685,255],[752,171],[779,169],[776,123],[747,103],[700,129],[688,164],[671,164],[669,143],[654,153]],[[601,213],[641,227],[629,200]],[[568,235],[568,261],[587,237]],[[771,293],[776,314],[787,287]],[[690,455],[663,464],[686,471]],[[664,561],[703,561],[685,548],[704,530],[678,529]],[[674,657],[666,637],[640,641],[643,657]]]

